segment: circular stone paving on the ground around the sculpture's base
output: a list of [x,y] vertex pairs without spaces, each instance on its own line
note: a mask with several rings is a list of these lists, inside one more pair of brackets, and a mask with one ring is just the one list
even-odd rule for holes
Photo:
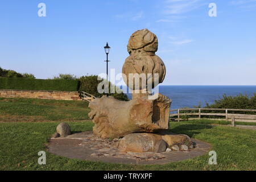
[[189,151],[120,152],[117,148],[118,142],[119,139],[101,139],[93,135],[92,131],[85,131],[68,137],[51,138],[48,150],[71,159],[122,164],[164,164],[195,158],[210,149],[210,144],[192,139],[195,148]]

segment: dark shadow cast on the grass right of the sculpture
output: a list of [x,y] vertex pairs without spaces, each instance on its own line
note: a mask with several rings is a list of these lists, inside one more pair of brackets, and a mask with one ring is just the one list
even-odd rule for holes
[[212,129],[214,126],[212,125],[204,125],[204,124],[185,124],[175,126],[173,129],[169,129],[170,132],[176,134],[186,134],[189,137],[193,137],[195,134],[200,134],[200,130]]

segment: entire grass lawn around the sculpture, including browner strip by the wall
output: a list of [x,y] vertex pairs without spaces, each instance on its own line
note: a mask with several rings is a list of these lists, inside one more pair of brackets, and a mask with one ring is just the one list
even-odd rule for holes
[[[208,165],[208,154],[182,162],[145,166],[88,162],[47,152],[45,144],[60,122],[80,121],[69,122],[72,131],[92,130],[92,122],[82,122],[89,119],[88,112],[88,102],[84,101],[0,98],[0,170],[256,170],[256,130],[203,119],[171,122],[170,130],[210,143],[217,152],[217,165]],[[42,150],[47,152],[45,166],[38,164],[38,152]]]

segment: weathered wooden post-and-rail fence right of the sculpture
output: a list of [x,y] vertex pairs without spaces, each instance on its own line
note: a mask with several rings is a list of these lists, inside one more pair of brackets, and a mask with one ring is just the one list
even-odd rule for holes
[[[170,112],[177,111],[177,113],[170,114],[170,119],[174,121],[201,119],[202,116],[218,117],[218,118],[205,118],[213,120],[226,120],[226,121],[241,121],[241,122],[256,122],[256,110],[251,109],[174,109]],[[188,111],[187,113],[185,111]],[[190,112],[189,112],[190,111]],[[223,113],[206,113],[205,111],[222,111]],[[232,112],[232,113],[229,113]],[[255,114],[236,114],[236,112],[254,113]],[[190,117],[192,116],[192,117]],[[198,116],[198,117],[195,117]],[[177,118],[172,118],[177,117]],[[185,118],[185,119],[184,119]]]

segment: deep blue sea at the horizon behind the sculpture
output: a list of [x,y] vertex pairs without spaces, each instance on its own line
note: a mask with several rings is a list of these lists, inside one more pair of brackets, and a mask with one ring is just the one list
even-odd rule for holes
[[[213,104],[215,100],[222,98],[224,94],[227,96],[237,96],[238,94],[247,94],[253,96],[256,93],[255,86],[173,86],[160,85],[159,93],[171,98],[171,109],[179,109],[181,107],[193,107],[199,104],[203,107]],[[131,99],[131,94],[127,93]],[[256,109],[256,108],[255,108]]]

